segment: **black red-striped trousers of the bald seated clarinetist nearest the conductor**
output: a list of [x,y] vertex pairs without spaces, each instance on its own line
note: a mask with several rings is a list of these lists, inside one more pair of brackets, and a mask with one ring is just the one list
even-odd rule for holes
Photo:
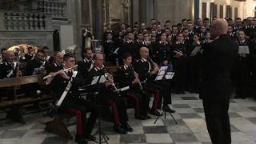
[[[162,101],[163,106],[167,106],[168,104],[171,104],[171,87],[170,82],[167,82],[165,80],[162,81],[148,81],[146,82],[146,89],[147,91],[154,91],[154,102],[152,109],[161,109],[162,107]],[[158,95],[158,96],[156,96]]]

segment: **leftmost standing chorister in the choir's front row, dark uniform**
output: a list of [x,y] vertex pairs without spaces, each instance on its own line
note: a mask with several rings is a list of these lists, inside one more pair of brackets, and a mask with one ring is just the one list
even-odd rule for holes
[[118,48],[118,45],[114,42],[112,33],[106,33],[106,41],[104,41],[102,45],[106,62],[111,62],[116,65],[117,55],[114,52]]

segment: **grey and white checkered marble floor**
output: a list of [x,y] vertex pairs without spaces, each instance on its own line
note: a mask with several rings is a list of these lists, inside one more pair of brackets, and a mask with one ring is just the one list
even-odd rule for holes
[[[206,122],[202,102],[198,94],[173,94],[172,107],[177,112],[174,118],[170,114],[160,118],[154,124],[154,116],[146,121],[134,119],[134,110],[128,110],[130,126],[133,133],[115,134],[112,124],[103,122],[103,130],[110,137],[110,144],[118,143],[168,143],[168,144],[210,144],[206,130]],[[54,134],[44,131],[44,126],[38,123],[42,114],[26,115],[26,125],[5,122],[0,126],[0,144],[73,144],[74,140],[65,141]],[[73,119],[75,121],[75,119]],[[230,123],[233,144],[256,144],[256,101],[253,99],[232,99],[230,102]],[[71,134],[76,127],[69,126]],[[94,143],[94,142],[89,142]]]

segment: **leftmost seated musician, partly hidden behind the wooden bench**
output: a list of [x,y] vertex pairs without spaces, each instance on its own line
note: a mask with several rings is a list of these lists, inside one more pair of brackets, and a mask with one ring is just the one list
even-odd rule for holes
[[[21,75],[20,71],[17,71],[18,63],[14,62],[14,52],[6,50],[4,54],[4,61],[0,64],[0,78],[15,78]],[[14,99],[14,87],[5,87],[0,89],[0,101],[2,97],[8,97],[7,99]],[[12,107],[7,112],[6,118],[12,119],[14,122],[20,122],[24,124],[24,119],[20,114],[19,107]]]

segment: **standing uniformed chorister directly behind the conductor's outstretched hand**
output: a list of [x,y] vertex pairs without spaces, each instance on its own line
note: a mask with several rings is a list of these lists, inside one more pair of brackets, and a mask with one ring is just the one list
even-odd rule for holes
[[[178,41],[174,42],[174,90],[176,94],[185,94],[186,89],[186,49],[187,44],[184,41],[183,34],[178,34]],[[176,57],[177,52],[182,53],[182,57]]]

